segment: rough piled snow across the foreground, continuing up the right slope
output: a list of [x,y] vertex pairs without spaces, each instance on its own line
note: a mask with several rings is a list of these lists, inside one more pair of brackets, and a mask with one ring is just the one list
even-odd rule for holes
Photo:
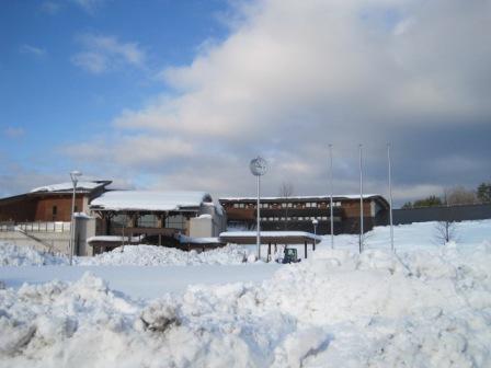
[[[393,254],[377,228],[362,255],[356,237],[335,237],[334,250],[328,237],[261,283],[193,281],[152,300],[110,289],[104,273],[23,286],[0,273],[0,366],[490,367],[491,221],[459,223],[456,235],[441,245],[434,223],[397,227]],[[258,266],[271,267],[180,268],[208,267],[205,278]],[[133,266],[127,278],[172,267]]]

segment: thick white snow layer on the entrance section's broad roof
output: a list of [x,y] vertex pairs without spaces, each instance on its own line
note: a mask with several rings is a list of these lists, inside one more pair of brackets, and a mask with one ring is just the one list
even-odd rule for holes
[[111,191],[91,202],[91,209],[176,211],[212,202],[205,192]]

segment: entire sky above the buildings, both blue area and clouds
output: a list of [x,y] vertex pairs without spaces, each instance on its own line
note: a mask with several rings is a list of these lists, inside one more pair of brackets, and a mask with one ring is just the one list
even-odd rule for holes
[[0,3],[0,195],[87,179],[251,195],[491,181],[491,1]]

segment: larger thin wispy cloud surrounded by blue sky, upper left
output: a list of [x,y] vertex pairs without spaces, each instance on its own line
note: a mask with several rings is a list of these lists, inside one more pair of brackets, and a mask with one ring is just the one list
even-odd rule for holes
[[123,43],[114,36],[84,34],[77,41],[83,50],[73,55],[71,61],[88,72],[99,74],[124,66],[142,68],[146,53],[137,43]]

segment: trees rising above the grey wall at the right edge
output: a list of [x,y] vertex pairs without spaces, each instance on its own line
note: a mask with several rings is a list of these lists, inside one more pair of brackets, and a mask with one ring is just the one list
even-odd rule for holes
[[472,191],[456,186],[444,191],[443,196],[431,195],[414,202],[407,202],[402,208],[437,207],[455,205],[491,204],[491,182],[481,183]]

